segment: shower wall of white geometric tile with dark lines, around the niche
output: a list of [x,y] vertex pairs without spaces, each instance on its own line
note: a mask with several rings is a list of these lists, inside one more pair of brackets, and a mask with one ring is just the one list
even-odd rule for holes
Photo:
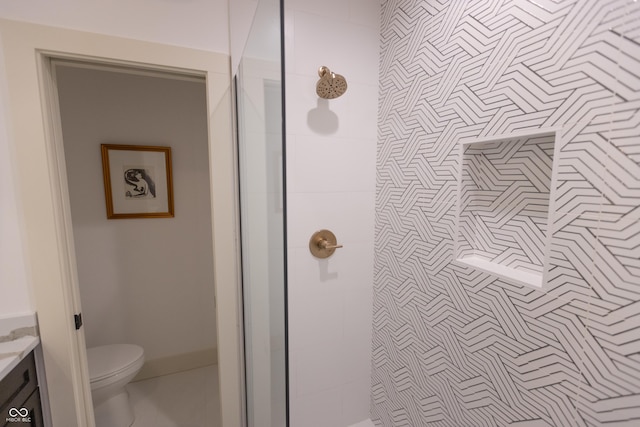
[[[381,38],[374,421],[640,425],[640,3],[385,0]],[[459,142],[547,127],[542,287],[452,262]]]

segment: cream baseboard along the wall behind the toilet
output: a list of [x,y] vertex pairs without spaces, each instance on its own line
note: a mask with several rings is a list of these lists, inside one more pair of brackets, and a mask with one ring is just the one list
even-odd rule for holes
[[189,369],[203,368],[218,363],[218,350],[206,348],[204,350],[181,353],[173,356],[147,360],[133,381],[141,381],[162,375],[175,374]]

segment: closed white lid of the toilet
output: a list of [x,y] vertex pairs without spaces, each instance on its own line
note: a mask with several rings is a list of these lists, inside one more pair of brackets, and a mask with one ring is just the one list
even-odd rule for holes
[[87,349],[91,381],[114,375],[143,357],[142,347],[134,344],[111,344]]

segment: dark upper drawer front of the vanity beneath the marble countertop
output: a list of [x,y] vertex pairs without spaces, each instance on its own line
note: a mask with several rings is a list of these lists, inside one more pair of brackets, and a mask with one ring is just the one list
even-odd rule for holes
[[31,352],[0,381],[0,425],[9,416],[9,410],[22,408],[37,387],[35,358]]

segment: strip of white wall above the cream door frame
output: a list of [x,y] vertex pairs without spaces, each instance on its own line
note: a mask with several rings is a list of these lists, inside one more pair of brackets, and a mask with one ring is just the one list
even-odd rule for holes
[[229,52],[227,0],[6,0],[0,2],[0,17]]

